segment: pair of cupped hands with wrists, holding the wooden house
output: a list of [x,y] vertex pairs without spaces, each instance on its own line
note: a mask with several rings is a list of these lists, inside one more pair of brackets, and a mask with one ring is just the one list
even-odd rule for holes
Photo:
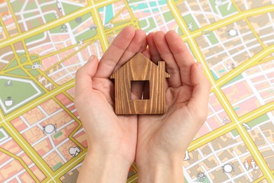
[[[147,48],[148,46],[148,48]],[[136,53],[166,61],[167,113],[116,115],[110,75]],[[140,97],[143,86],[134,86]],[[74,103],[89,145],[78,182],[126,182],[133,161],[138,182],[182,182],[185,150],[207,117],[210,84],[174,31],[146,36],[126,27],[100,62],[92,56],[77,71]]]

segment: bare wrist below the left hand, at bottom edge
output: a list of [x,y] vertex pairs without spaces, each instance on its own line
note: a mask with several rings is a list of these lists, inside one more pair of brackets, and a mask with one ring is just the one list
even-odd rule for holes
[[126,182],[130,167],[119,155],[88,151],[77,182]]

